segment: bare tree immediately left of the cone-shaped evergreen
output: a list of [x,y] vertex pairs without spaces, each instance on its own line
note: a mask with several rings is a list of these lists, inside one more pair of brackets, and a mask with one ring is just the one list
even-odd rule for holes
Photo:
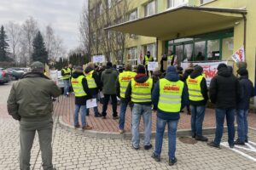
[[38,32],[38,22],[32,17],[28,18],[21,28],[23,50],[26,50],[26,62],[32,61],[32,41]]

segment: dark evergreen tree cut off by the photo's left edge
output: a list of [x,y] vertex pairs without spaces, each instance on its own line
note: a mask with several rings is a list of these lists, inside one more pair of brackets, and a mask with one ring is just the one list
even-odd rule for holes
[[7,61],[8,60],[8,48],[9,44],[7,42],[7,35],[4,31],[3,26],[1,26],[0,31],[0,61]]

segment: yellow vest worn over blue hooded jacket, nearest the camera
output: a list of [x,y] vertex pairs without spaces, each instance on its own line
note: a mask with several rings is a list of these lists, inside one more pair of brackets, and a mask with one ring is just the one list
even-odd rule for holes
[[179,112],[182,104],[184,82],[171,82],[166,78],[160,79],[160,97],[158,109],[166,112]]

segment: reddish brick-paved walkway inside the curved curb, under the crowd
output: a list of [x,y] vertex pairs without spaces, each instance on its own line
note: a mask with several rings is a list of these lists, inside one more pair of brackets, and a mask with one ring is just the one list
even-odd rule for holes
[[[66,122],[69,125],[73,126],[73,111],[74,111],[74,97],[71,95],[68,98],[60,97],[59,101],[55,103],[56,108],[55,112],[61,114],[62,121]],[[102,104],[98,103],[98,109],[102,111]],[[184,112],[181,113],[181,118],[178,123],[178,129],[190,129],[190,117],[186,114],[186,109],[183,110]],[[102,117],[95,117],[94,112],[90,109],[90,116],[87,116],[87,122],[90,126],[93,127],[93,130],[99,132],[119,132],[119,120],[113,120],[112,117],[112,107],[108,105],[108,114],[107,119],[102,119]],[[119,106],[118,106],[119,112]],[[250,113],[248,117],[249,126],[256,127],[256,114]],[[155,123],[156,123],[156,113],[153,112],[152,114],[152,131],[155,132]],[[207,109],[205,120],[203,122],[203,127],[215,127],[215,113],[212,109]],[[140,124],[140,129],[143,131],[143,120]],[[131,110],[130,107],[126,110],[125,115],[125,131],[131,132]]]

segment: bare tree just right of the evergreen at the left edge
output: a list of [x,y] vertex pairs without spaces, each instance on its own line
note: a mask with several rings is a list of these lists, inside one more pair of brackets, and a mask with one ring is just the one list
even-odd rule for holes
[[17,48],[20,42],[20,25],[9,21],[6,30],[9,37],[9,47],[11,48],[13,59],[16,61]]

